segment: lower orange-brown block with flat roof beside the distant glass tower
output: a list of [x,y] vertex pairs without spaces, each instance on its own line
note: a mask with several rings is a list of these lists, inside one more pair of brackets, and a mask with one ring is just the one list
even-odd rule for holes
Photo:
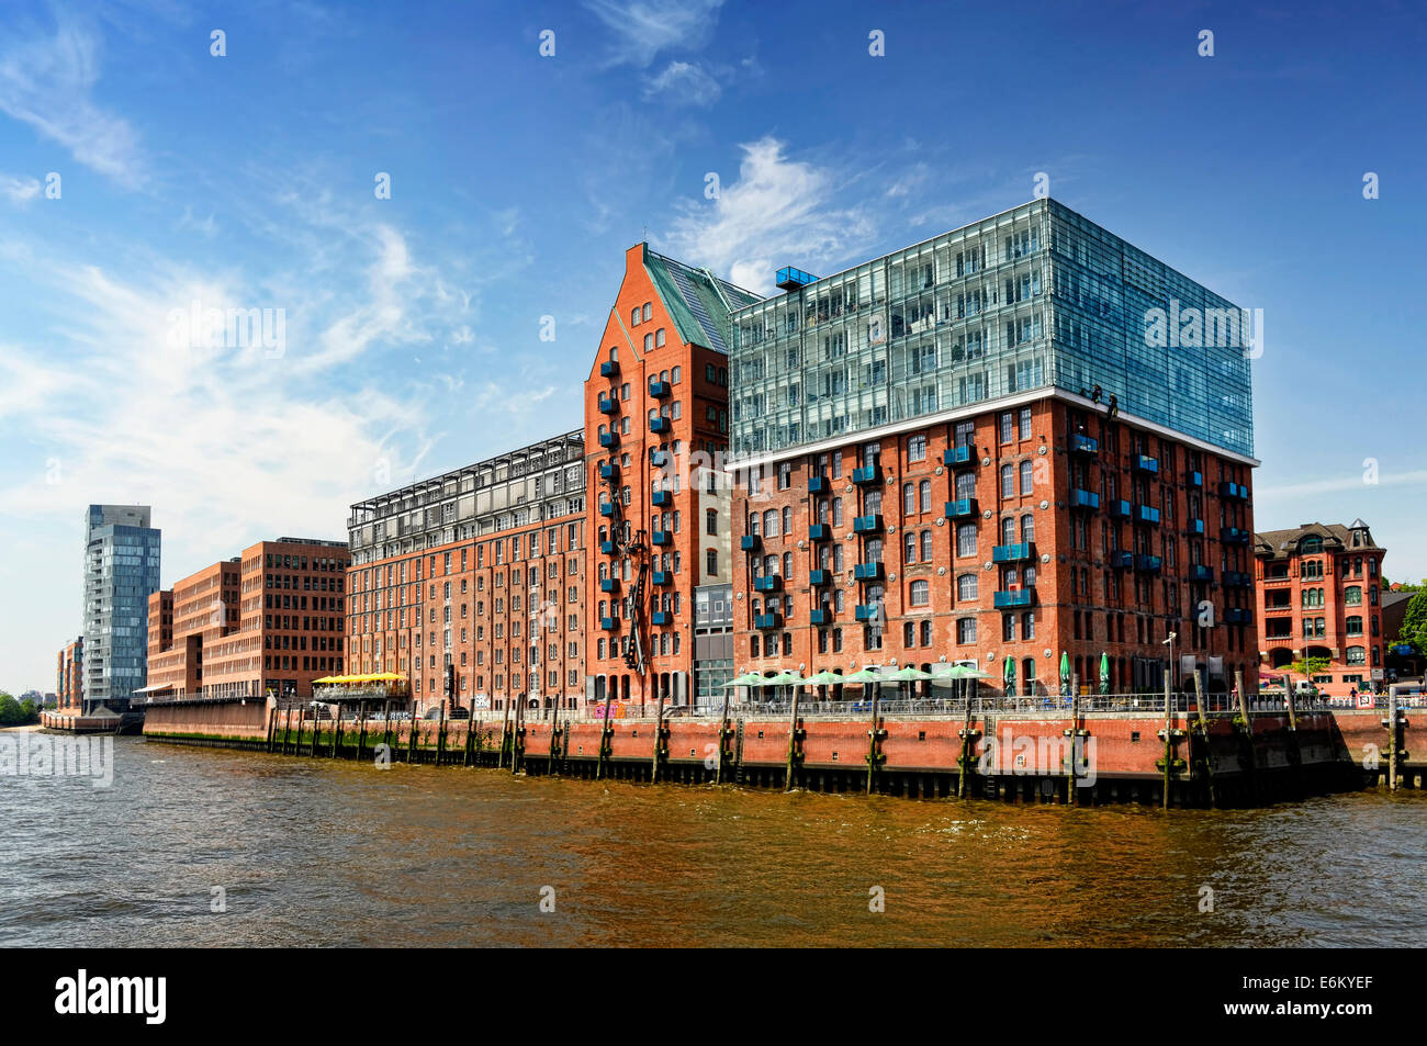
[[310,698],[345,664],[345,542],[261,541],[148,596],[151,701]]

